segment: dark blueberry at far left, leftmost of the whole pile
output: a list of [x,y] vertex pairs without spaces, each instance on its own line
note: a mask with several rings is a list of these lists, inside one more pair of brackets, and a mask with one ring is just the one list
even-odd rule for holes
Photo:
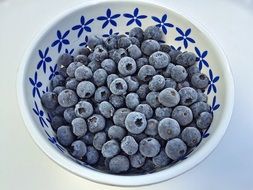
[[44,108],[53,110],[57,107],[57,94],[54,92],[46,92],[41,96],[41,104]]

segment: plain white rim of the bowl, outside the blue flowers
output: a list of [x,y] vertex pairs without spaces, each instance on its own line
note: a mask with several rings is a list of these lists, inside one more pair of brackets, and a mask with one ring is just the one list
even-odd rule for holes
[[[182,19],[187,20],[192,25],[194,25],[196,28],[200,30],[200,32],[204,33],[204,35],[207,37],[210,44],[212,44],[213,47],[216,48],[216,53],[218,54],[219,58],[223,62],[223,67],[226,73],[226,77],[224,77],[224,80],[226,84],[225,88],[226,91],[230,96],[227,96],[225,99],[224,105],[224,117],[220,121],[219,127],[216,129],[215,135],[212,135],[205,143],[204,147],[201,147],[198,151],[194,153],[194,155],[190,156],[183,162],[181,162],[178,165],[175,165],[173,167],[170,167],[168,169],[158,171],[151,174],[145,174],[145,175],[139,175],[139,176],[120,176],[120,175],[113,175],[113,174],[106,174],[99,171],[92,170],[87,167],[83,167],[78,163],[73,162],[69,158],[62,156],[62,153],[58,152],[55,147],[53,147],[47,139],[45,139],[44,135],[41,134],[40,130],[35,127],[35,122],[30,118],[29,114],[29,108],[28,104],[26,103],[26,97],[23,90],[23,87],[25,86],[25,71],[28,67],[29,63],[29,57],[32,55],[31,49],[36,48],[36,45],[38,41],[44,36],[44,34],[50,30],[58,21],[69,15],[70,13],[73,13],[75,11],[78,11],[80,9],[87,8],[89,6],[94,6],[98,4],[103,3],[144,3],[147,6],[156,6],[160,9],[168,10],[169,12],[172,12],[173,14],[177,15],[178,17],[181,17]],[[142,186],[142,185],[149,185],[154,184],[158,182],[162,182],[171,178],[174,178],[180,174],[183,174],[184,172],[192,169],[197,164],[199,164],[201,161],[203,161],[210,153],[214,150],[214,148],[218,145],[222,137],[224,136],[224,133],[228,127],[232,111],[233,111],[233,105],[234,105],[234,81],[231,73],[231,69],[227,60],[227,57],[222,50],[221,46],[218,44],[218,42],[213,38],[213,36],[205,29],[204,26],[202,26],[199,22],[197,22],[193,18],[189,18],[189,16],[185,16],[183,13],[181,13],[178,10],[173,10],[171,8],[165,7],[165,5],[162,5],[157,2],[147,2],[145,0],[98,0],[96,2],[94,1],[88,1],[85,3],[81,3],[79,5],[76,5],[74,7],[71,7],[70,9],[63,11],[61,14],[56,16],[52,21],[49,22],[49,24],[46,25],[46,27],[43,27],[42,30],[36,35],[35,38],[32,39],[31,44],[28,46],[28,48],[25,51],[25,54],[23,56],[22,62],[18,68],[18,74],[17,74],[17,98],[18,98],[18,104],[21,111],[22,118],[24,120],[25,126],[28,129],[30,135],[32,136],[35,144],[38,145],[38,147],[53,161],[55,161],[58,165],[61,167],[67,169],[68,171],[89,179],[94,182],[107,184],[107,185],[115,185],[115,186]]]

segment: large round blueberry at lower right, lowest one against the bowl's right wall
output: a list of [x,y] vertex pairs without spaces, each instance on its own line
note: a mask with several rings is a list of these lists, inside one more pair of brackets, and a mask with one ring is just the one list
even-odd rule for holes
[[165,146],[165,153],[172,160],[179,160],[187,151],[186,144],[179,138],[171,139]]

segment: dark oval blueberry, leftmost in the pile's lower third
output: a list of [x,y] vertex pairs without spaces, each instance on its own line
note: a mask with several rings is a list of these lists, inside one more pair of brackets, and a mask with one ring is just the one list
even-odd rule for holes
[[59,143],[63,146],[69,146],[74,141],[74,135],[69,126],[61,126],[57,129],[56,133]]

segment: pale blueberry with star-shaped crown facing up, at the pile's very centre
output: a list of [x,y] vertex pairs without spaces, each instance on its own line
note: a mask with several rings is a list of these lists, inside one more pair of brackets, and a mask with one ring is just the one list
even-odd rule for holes
[[127,83],[122,78],[114,79],[110,84],[110,91],[115,95],[123,95],[127,91]]

